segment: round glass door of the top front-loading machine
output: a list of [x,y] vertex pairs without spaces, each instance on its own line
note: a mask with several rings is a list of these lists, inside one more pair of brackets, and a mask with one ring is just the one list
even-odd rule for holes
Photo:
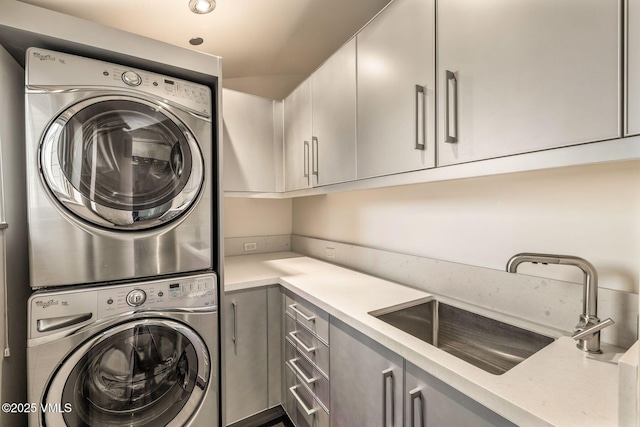
[[115,230],[176,219],[204,180],[191,131],[168,109],[131,96],[86,99],[60,114],[44,133],[40,169],[62,207]]

